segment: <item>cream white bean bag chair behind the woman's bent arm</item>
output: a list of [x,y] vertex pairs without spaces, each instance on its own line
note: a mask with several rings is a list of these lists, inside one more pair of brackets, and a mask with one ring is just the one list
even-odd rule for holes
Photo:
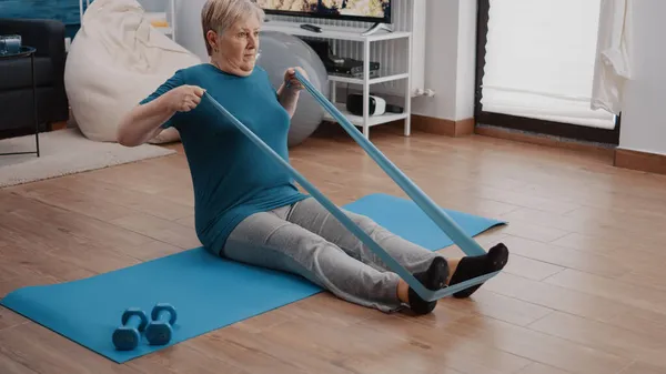
[[[64,84],[73,119],[91,140],[115,142],[122,115],[176,70],[201,59],[151,26],[134,0],[94,0],[67,58]],[[175,129],[152,143],[178,141]]]

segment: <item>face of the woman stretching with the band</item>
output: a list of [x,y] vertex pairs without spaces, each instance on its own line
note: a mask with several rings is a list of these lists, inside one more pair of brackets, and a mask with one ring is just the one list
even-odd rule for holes
[[213,48],[212,62],[223,71],[249,75],[254,70],[259,50],[260,22],[250,17],[229,27],[221,36],[209,31],[206,37]]

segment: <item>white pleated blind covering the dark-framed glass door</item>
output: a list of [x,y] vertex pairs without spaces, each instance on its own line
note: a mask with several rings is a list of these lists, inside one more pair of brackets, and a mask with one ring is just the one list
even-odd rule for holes
[[613,113],[592,108],[601,4],[491,0],[483,110],[614,128]]

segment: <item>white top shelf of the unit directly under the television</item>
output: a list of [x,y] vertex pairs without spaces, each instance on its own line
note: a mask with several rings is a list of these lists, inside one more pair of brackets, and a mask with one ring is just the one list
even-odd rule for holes
[[379,40],[391,40],[408,38],[411,32],[407,31],[393,31],[387,32],[380,30],[371,36],[362,36],[365,29],[331,26],[331,24],[316,24],[322,29],[322,32],[313,32],[310,30],[301,29],[301,24],[306,22],[284,22],[284,21],[266,21],[263,23],[263,31],[281,31],[292,36],[299,37],[311,37],[311,38],[323,38],[323,39],[340,39],[340,40],[352,40],[352,41],[379,41]]

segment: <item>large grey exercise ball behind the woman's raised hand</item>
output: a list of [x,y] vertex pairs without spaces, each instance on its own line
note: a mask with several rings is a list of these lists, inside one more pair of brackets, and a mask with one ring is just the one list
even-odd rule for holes
[[[278,90],[284,82],[289,68],[300,67],[307,80],[329,98],[329,74],[324,62],[303,40],[278,31],[263,31],[260,36],[258,65],[264,69],[271,84]],[[305,141],[324,120],[324,109],[310,92],[303,90],[289,130],[289,146]]]

